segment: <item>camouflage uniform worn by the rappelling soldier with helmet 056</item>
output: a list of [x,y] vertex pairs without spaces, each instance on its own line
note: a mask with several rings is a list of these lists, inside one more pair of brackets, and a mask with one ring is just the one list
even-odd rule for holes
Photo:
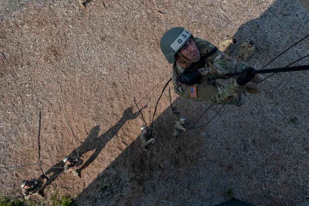
[[[214,45],[208,41],[199,38],[193,38],[193,41],[202,55],[209,53],[214,48]],[[179,81],[180,75],[184,72],[185,68],[175,62],[172,70],[174,90],[178,95],[187,99],[210,104],[240,106],[247,101],[248,94],[245,87],[240,86],[236,80],[224,86],[215,82],[215,78],[222,78],[222,76],[229,73],[241,72],[245,67],[246,65],[237,63],[218,50],[192,68],[199,69],[202,79],[195,82],[194,85],[186,85]],[[224,79],[228,78],[230,77],[224,77]],[[196,86],[197,98],[190,97],[190,86]]]

